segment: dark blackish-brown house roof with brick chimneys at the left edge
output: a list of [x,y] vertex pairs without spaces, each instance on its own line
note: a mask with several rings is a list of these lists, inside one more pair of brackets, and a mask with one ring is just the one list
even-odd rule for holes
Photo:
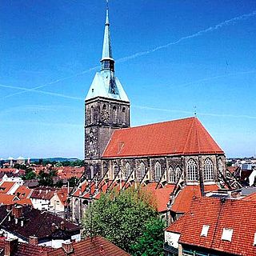
[[80,227],[72,222],[31,206],[0,206],[0,219],[3,220],[3,230],[17,234],[26,241],[30,236],[36,236],[38,239],[66,239],[71,234],[80,233]]

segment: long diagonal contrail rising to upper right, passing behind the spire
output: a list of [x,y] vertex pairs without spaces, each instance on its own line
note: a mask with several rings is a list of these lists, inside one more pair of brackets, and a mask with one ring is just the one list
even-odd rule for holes
[[[161,50],[161,49],[167,48],[167,47],[169,47],[169,46],[177,45],[179,42],[182,42],[182,41],[184,41],[184,40],[186,40],[186,39],[199,37],[199,36],[201,36],[202,34],[206,34],[206,33],[208,33],[208,32],[221,29],[223,26],[232,25],[232,24],[234,24],[234,23],[236,23],[236,22],[239,22],[239,21],[241,21],[241,20],[245,20],[245,19],[250,18],[250,17],[253,17],[253,16],[255,16],[255,15],[256,15],[256,10],[254,10],[254,11],[251,12],[250,14],[242,14],[242,15],[240,15],[240,16],[237,16],[237,17],[234,17],[234,18],[230,18],[230,19],[228,19],[228,20],[226,20],[226,21],[224,21],[224,22],[218,23],[218,24],[215,25],[215,26],[210,26],[210,27],[208,27],[208,28],[205,29],[205,30],[200,30],[200,31],[198,31],[197,33],[190,34],[190,35],[188,35],[188,36],[186,36],[186,37],[179,38],[179,39],[178,39],[177,41],[175,41],[175,42],[169,42],[169,43],[167,43],[167,44],[165,44],[165,45],[155,47],[154,49],[151,49],[151,50],[145,50],[145,51],[141,51],[141,52],[138,52],[138,53],[136,53],[136,54],[132,54],[132,55],[127,56],[127,57],[124,57],[124,58],[118,58],[118,60],[117,60],[116,62],[126,62],[126,61],[128,61],[128,60],[130,60],[130,59],[138,58],[138,57],[140,57],[140,56],[142,56],[142,55],[154,53],[154,52],[157,51],[157,50]],[[6,95],[4,98],[9,98],[9,97],[12,97],[12,96],[14,96],[14,95],[23,94],[23,93],[25,93],[26,91],[34,91],[34,90],[40,89],[40,88],[45,87],[45,86],[50,86],[50,85],[52,85],[52,84],[54,84],[54,83],[62,82],[62,81],[64,81],[64,80],[66,80],[66,79],[74,78],[74,77],[76,77],[76,76],[78,76],[78,75],[81,75],[81,74],[86,74],[86,73],[90,72],[91,70],[97,70],[98,67],[99,67],[99,66],[94,66],[94,67],[92,67],[92,68],[90,68],[90,69],[88,69],[88,70],[84,70],[84,71],[82,71],[82,72],[80,72],[80,73],[78,73],[78,74],[73,74],[73,75],[70,75],[70,76],[65,77],[65,78],[59,78],[59,79],[54,80],[54,81],[52,81],[52,82],[48,82],[48,83],[46,83],[46,84],[44,84],[44,85],[42,85],[42,86],[36,86],[36,87],[30,88],[30,89],[29,89],[29,88],[26,88],[27,90],[23,90],[23,89],[22,89],[22,91],[17,92],[17,93],[14,93],[14,94]],[[46,92],[44,92],[44,93],[46,93]]]

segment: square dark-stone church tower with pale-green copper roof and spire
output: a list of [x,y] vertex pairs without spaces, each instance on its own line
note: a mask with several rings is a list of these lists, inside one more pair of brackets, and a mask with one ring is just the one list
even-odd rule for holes
[[85,101],[85,166],[89,179],[95,174],[102,177],[102,153],[114,130],[130,127],[130,102],[114,73],[108,6],[100,62],[101,71],[95,74]]

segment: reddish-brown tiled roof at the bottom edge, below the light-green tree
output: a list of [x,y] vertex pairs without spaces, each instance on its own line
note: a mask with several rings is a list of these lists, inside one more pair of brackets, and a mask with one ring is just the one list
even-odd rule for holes
[[[113,243],[108,242],[105,238],[95,237],[86,238],[81,242],[73,243],[74,253],[69,255],[72,256],[130,256],[124,250],[120,249],[118,246],[114,246]],[[48,253],[49,256],[66,256],[66,253],[62,248],[54,250]]]

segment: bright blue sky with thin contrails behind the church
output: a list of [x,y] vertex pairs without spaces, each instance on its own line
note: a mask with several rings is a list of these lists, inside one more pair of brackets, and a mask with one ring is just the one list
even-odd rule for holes
[[[83,158],[105,5],[1,1],[0,158]],[[110,0],[110,31],[132,126],[190,117],[196,106],[227,157],[256,154],[254,0]]]

